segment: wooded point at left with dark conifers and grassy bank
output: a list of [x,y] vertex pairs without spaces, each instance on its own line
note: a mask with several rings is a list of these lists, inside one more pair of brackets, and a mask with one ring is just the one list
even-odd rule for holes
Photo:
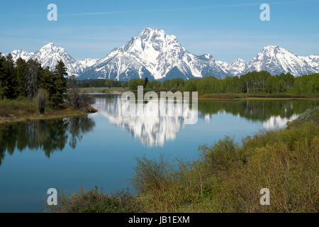
[[60,61],[54,71],[37,60],[0,57],[0,123],[81,116],[96,111],[80,95],[74,76],[66,78]]

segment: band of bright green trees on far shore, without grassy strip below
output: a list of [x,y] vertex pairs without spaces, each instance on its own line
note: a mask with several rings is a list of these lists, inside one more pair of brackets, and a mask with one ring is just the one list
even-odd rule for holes
[[79,87],[128,87],[131,90],[144,86],[146,90],[209,93],[296,93],[317,94],[319,92],[319,74],[306,74],[293,77],[290,73],[271,75],[269,72],[248,72],[240,77],[216,77],[158,80],[131,79],[129,82],[113,81],[112,79],[94,79],[79,82]]

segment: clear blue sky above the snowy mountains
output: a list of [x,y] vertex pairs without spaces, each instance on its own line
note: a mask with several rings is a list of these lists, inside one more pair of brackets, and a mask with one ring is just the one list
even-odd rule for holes
[[[51,3],[57,21],[47,21]],[[263,3],[271,21],[259,19]],[[150,27],[176,35],[189,52],[227,62],[250,60],[266,45],[310,55],[319,53],[318,9],[318,0],[3,1],[0,52],[34,52],[53,42],[78,60],[101,58]]]

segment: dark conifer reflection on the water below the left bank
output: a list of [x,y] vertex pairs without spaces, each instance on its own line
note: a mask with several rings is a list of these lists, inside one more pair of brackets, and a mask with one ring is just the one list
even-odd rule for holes
[[68,142],[75,148],[94,126],[88,116],[0,126],[0,165],[6,152],[12,155],[16,149],[40,149],[50,157],[55,150],[63,150]]

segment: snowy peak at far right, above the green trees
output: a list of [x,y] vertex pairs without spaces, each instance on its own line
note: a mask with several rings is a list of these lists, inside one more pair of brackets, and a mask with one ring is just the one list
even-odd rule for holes
[[269,45],[247,64],[245,72],[266,70],[270,74],[290,72],[295,76],[314,73],[306,60],[279,46]]

